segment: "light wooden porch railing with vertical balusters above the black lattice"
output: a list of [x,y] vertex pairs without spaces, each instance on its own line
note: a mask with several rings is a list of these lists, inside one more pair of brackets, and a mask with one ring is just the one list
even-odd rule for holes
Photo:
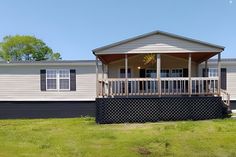
[[[99,81],[99,96],[136,96],[136,95],[216,95],[218,77],[189,78],[108,78]],[[127,84],[127,85],[126,85]],[[159,85],[161,86],[159,88]],[[191,92],[189,92],[191,89]]]

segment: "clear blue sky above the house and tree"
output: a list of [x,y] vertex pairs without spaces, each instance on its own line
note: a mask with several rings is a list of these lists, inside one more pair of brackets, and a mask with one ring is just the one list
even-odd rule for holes
[[225,46],[236,58],[236,0],[0,0],[0,41],[33,35],[64,60],[161,30]]

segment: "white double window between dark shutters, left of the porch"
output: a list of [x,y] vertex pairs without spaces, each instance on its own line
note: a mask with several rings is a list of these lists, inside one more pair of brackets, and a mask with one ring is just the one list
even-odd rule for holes
[[48,69],[46,70],[47,90],[69,90],[70,70],[68,69]]

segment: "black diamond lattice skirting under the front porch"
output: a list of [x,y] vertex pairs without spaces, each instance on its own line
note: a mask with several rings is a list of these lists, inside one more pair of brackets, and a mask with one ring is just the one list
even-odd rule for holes
[[157,122],[223,118],[221,97],[97,98],[96,122]]

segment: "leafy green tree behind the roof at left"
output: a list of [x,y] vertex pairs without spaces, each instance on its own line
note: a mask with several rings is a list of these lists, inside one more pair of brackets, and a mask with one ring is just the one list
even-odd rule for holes
[[34,36],[5,36],[0,43],[0,57],[5,61],[60,60],[60,53],[54,53],[42,40]]

